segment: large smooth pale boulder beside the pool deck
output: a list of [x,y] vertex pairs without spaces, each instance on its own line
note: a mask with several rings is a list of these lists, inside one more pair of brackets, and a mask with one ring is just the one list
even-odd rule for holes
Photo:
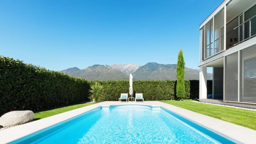
[[0,117],[0,126],[15,126],[23,124],[34,119],[32,111],[11,111]]

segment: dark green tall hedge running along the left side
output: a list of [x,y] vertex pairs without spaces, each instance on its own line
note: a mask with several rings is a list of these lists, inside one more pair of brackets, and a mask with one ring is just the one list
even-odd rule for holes
[[88,82],[0,56],[0,116],[88,101]]

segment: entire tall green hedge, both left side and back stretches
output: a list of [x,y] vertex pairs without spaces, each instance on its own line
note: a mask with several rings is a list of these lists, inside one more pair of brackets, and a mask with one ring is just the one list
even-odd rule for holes
[[[67,74],[24,64],[0,56],[0,116],[14,110],[42,110],[89,101],[87,81]],[[129,81],[98,81],[103,85],[103,101],[117,101],[121,93],[129,93]],[[133,95],[143,93],[146,101],[176,99],[174,80],[135,80]],[[212,81],[207,81],[208,94]],[[199,98],[199,81],[185,80],[184,99]]]

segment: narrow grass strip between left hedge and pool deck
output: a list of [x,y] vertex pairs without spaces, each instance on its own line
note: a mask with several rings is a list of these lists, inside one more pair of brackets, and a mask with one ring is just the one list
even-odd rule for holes
[[41,118],[50,117],[50,116],[53,116],[55,114],[71,111],[71,110],[74,110],[76,108],[85,107],[85,106],[89,106],[89,105],[92,105],[92,104],[95,104],[95,103],[81,103],[81,104],[76,104],[76,105],[57,107],[57,108],[53,108],[53,109],[50,109],[50,110],[38,111],[38,112],[34,113],[34,119],[38,120],[38,119],[41,119]]

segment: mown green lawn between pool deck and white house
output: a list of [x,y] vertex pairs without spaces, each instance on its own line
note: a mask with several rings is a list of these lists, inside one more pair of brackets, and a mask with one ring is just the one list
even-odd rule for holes
[[165,100],[161,102],[256,130],[256,111],[208,105],[191,101],[193,100]]

